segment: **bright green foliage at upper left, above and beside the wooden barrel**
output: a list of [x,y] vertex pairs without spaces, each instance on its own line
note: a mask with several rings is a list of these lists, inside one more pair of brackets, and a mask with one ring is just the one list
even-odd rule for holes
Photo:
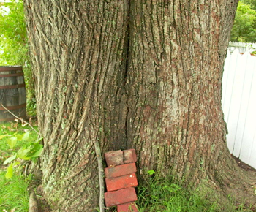
[[4,3],[0,7],[0,66],[12,65],[23,67],[28,113],[35,115],[34,80],[31,72],[22,0]]

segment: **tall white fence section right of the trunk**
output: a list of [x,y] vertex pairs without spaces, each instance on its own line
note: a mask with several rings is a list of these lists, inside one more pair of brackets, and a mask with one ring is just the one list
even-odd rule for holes
[[230,153],[256,168],[256,57],[227,51],[222,79],[222,109]]

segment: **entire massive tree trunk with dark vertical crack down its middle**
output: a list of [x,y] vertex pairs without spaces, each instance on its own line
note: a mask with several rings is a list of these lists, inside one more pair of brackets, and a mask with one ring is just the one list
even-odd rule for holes
[[24,0],[53,211],[97,208],[95,142],[135,148],[145,181],[153,169],[206,194],[255,198],[221,108],[237,1]]

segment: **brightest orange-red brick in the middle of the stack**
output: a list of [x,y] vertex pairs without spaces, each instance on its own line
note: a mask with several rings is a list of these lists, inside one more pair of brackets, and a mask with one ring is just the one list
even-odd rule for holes
[[130,175],[123,175],[117,178],[106,178],[105,180],[108,192],[138,186],[135,173]]

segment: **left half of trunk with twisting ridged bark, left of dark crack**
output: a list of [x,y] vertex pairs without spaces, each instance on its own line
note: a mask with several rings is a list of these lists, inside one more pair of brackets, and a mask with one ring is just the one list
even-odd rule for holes
[[44,137],[45,197],[53,211],[94,211],[99,199],[94,143],[104,152],[117,145],[105,142],[107,136],[118,143],[125,132],[128,2],[25,4]]

